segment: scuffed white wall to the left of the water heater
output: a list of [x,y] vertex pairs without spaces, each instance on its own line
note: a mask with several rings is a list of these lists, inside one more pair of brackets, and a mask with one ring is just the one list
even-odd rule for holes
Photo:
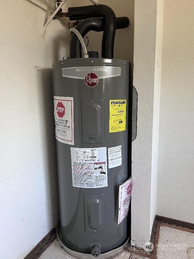
[[0,258],[22,259],[59,220],[51,65],[69,34],[53,21],[44,35],[25,0],[2,1],[0,19]]

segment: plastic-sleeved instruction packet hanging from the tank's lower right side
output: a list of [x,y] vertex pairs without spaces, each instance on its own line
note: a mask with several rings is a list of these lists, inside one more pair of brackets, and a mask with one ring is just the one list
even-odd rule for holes
[[131,200],[131,193],[133,188],[132,178],[119,186],[119,216],[118,224],[125,219],[129,212],[129,204]]

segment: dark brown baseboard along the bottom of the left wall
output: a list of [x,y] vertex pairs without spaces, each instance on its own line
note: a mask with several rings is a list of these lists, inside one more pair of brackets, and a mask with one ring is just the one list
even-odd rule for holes
[[37,259],[57,237],[57,228],[53,228],[43,239],[32,249],[24,259]]

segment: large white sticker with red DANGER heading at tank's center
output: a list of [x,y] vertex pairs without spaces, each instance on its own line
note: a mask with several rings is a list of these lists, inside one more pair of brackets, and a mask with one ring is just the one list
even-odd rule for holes
[[108,186],[106,147],[71,148],[71,162],[74,187]]

